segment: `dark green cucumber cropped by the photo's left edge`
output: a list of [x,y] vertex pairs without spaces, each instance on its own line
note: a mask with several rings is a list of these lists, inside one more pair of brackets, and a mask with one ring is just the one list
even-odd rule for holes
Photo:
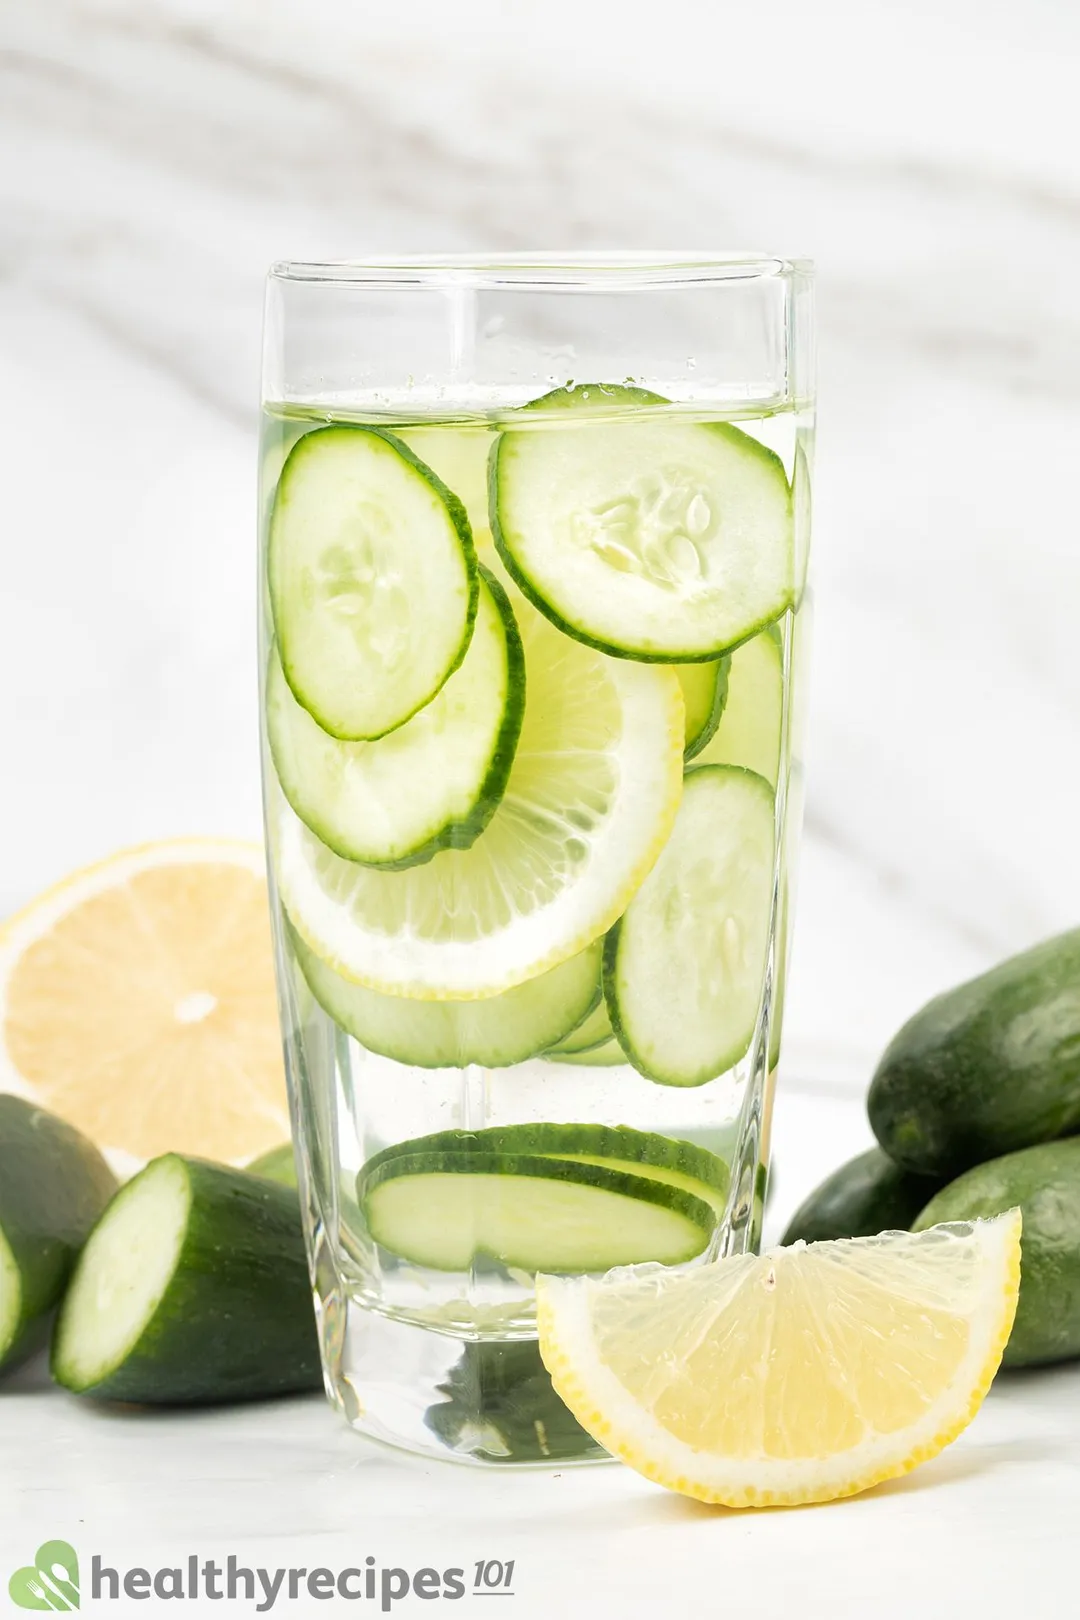
[[45,1336],[117,1178],[74,1126],[0,1094],[0,1367]]

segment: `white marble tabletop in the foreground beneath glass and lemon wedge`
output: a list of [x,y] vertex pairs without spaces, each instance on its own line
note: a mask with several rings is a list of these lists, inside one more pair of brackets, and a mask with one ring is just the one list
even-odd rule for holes
[[[499,1558],[515,1563],[504,1605],[513,1620],[1061,1620],[1074,1607],[1078,1460],[1075,1369],[1002,1379],[967,1435],[907,1479],[827,1508],[764,1513],[704,1508],[617,1466],[507,1479],[376,1452],[317,1396],[147,1421],[28,1388],[0,1396],[0,1568],[6,1578],[45,1536],[63,1536],[92,1615],[139,1614],[123,1599],[87,1601],[94,1554],[120,1571],[186,1570],[193,1554],[227,1565],[232,1554],[270,1570],[363,1568],[372,1557],[379,1570],[466,1571],[460,1607],[411,1596],[390,1605],[408,1617],[483,1620],[491,1605],[476,1610],[474,1565]],[[173,1607],[254,1614],[243,1599]],[[342,1610],[353,1612],[340,1601],[269,1612]]]

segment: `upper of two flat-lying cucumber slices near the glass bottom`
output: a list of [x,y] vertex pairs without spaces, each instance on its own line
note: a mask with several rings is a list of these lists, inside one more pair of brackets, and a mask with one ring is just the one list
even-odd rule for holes
[[526,1158],[563,1158],[578,1165],[597,1165],[631,1176],[662,1181],[669,1187],[691,1192],[717,1213],[727,1204],[729,1170],[722,1158],[696,1142],[635,1131],[627,1124],[554,1123],[502,1124],[484,1131],[437,1131],[385,1147],[368,1160],[364,1174],[372,1174],[393,1158],[416,1155],[512,1153]]

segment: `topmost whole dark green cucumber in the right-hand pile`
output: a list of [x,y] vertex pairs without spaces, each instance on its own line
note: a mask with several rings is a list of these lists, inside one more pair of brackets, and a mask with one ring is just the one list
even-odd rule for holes
[[938,996],[868,1097],[886,1153],[942,1179],[1080,1131],[1080,928]]

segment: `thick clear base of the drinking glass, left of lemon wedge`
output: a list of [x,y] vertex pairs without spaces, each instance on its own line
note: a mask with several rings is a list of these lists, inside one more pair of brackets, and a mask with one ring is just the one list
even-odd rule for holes
[[330,1400],[371,1440],[494,1468],[610,1461],[555,1395],[534,1338],[463,1340],[353,1302],[322,1325]]

